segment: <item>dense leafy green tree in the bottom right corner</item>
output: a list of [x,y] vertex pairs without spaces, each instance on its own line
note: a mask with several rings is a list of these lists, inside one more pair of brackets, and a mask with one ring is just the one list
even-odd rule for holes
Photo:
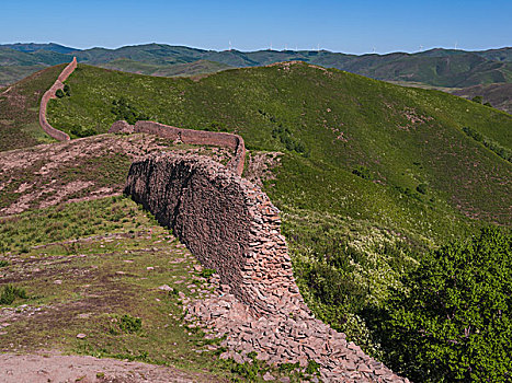
[[388,362],[417,382],[512,380],[512,235],[483,229],[429,254],[382,327]]

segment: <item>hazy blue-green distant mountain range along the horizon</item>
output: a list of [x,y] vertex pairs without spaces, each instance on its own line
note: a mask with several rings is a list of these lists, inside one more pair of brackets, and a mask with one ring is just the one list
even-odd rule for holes
[[216,51],[164,44],[80,50],[53,43],[18,43],[0,45],[0,84],[7,85],[45,67],[67,62],[72,56],[83,63],[163,77],[211,73],[280,61],[306,61],[377,80],[457,91],[476,85],[512,83],[512,47],[481,51],[435,48],[417,54],[346,55],[328,50]]

